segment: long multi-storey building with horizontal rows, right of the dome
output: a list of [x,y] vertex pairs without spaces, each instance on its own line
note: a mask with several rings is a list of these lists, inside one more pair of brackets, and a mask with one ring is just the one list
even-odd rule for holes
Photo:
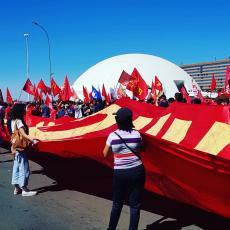
[[216,79],[217,89],[221,89],[224,86],[227,66],[230,66],[230,59],[186,64],[180,67],[197,82],[202,91],[209,91],[213,74]]

